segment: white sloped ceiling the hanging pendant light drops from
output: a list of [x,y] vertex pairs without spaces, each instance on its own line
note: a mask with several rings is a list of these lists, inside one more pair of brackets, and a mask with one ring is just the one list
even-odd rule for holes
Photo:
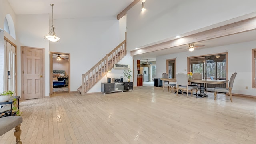
[[50,14],[54,19],[117,16],[134,0],[8,0],[16,14]]

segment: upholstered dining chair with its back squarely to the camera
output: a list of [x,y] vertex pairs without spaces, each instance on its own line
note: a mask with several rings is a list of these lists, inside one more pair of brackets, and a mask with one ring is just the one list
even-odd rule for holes
[[176,96],[178,96],[179,90],[182,90],[182,95],[183,95],[183,90],[186,90],[187,98],[188,98],[188,90],[191,90],[191,96],[193,95],[193,87],[188,86],[188,75],[187,74],[185,74],[185,73],[176,74],[176,82],[177,82]]

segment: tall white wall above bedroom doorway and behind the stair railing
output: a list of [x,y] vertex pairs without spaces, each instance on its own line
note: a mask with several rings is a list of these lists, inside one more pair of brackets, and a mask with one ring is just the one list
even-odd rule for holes
[[54,26],[60,41],[50,42],[50,51],[70,53],[70,90],[76,91],[82,74],[120,44],[119,21],[116,16],[65,19],[54,20]]

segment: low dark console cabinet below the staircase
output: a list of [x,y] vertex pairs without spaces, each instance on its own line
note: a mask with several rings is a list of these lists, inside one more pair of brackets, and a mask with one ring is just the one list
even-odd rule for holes
[[123,92],[133,90],[132,82],[119,82],[119,83],[101,83],[101,92]]

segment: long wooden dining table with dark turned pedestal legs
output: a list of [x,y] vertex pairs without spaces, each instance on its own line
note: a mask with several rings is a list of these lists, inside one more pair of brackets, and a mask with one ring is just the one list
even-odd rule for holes
[[[176,82],[176,78],[160,78],[163,81],[163,86],[164,86],[164,81],[169,81],[169,82]],[[192,83],[198,83],[200,84],[200,94],[196,96],[196,98],[204,98],[208,96],[207,94],[204,93],[205,87],[204,84],[225,84],[228,83],[228,80],[212,80],[212,79],[188,79],[188,82]],[[176,92],[175,92],[176,93]]]

